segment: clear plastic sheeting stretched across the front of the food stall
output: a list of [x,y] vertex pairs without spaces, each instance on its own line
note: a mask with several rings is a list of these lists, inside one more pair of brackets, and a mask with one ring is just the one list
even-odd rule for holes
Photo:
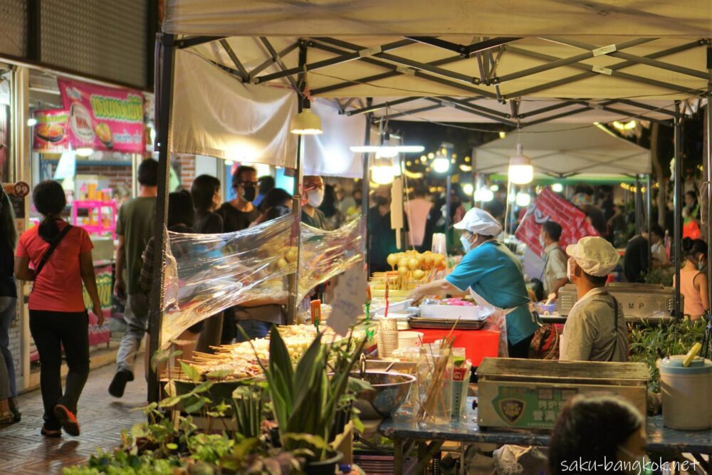
[[[286,303],[297,271],[296,216],[233,233],[168,233],[162,347],[184,330],[237,305]],[[300,224],[298,298],[363,258],[361,221],[336,231]]]

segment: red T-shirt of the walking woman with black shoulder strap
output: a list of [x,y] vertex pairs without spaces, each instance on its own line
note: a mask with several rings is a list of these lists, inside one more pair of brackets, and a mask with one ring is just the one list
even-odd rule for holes
[[[59,229],[67,226],[66,221],[58,221]],[[17,243],[15,256],[27,257],[36,268],[49,243],[38,234],[38,226],[23,232]],[[49,261],[36,278],[30,293],[30,310],[54,310],[56,312],[83,312],[85,310],[82,293],[82,277],[79,269],[79,254],[91,252],[93,248],[89,234],[83,228],[74,226],[64,236]]]

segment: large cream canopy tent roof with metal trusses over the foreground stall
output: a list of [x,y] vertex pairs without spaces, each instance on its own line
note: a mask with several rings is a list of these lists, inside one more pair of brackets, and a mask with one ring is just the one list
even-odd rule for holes
[[[711,19],[711,2],[698,0],[167,0],[157,48],[159,161],[167,170],[183,120],[170,100],[186,87],[174,76],[177,49],[246,90],[288,87],[300,103],[329,98],[342,115],[372,120],[394,111],[508,126],[674,120],[681,157],[682,104],[674,103],[709,95]],[[211,88],[210,78],[187,87]],[[680,176],[681,160],[676,166]],[[164,215],[163,203],[159,234]],[[156,243],[162,253],[164,240]],[[162,282],[158,263],[156,273]]]

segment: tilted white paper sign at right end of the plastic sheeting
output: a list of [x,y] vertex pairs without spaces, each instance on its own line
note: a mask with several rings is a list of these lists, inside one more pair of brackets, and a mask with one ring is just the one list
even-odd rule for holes
[[328,325],[339,335],[346,335],[349,328],[356,323],[356,318],[363,315],[364,303],[366,303],[366,273],[361,260],[339,276],[339,281],[334,288],[334,300],[331,303]]

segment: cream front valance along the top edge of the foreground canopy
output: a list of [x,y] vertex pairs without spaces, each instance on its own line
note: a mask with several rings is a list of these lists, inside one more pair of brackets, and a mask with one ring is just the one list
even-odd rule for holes
[[712,11],[698,0],[167,0],[165,6],[164,31],[209,36],[707,36]]

